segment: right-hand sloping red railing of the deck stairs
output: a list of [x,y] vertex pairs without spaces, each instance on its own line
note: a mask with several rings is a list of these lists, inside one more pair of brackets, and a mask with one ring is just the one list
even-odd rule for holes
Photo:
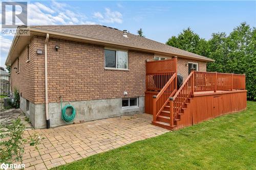
[[174,126],[174,120],[178,119],[181,109],[194,93],[194,71],[191,71],[185,82],[173,97],[170,97],[170,126]]

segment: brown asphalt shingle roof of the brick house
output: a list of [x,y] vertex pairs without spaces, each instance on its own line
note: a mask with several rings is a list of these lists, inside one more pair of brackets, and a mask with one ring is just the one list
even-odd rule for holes
[[131,33],[127,33],[128,38],[125,38],[123,37],[123,31],[101,25],[50,25],[31,27],[46,31],[54,31],[58,33],[94,38],[97,40],[118,43],[120,45],[131,45],[163,53],[176,54],[187,57],[196,57],[204,60],[212,60],[207,57],[180,50],[179,48],[169,46],[144,37],[140,37]]

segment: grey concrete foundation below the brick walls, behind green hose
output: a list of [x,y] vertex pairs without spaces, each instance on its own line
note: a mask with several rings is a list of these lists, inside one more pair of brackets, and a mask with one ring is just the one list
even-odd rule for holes
[[[138,98],[138,107],[129,108],[122,108],[122,99],[103,99],[69,103],[76,109],[74,122],[87,122],[90,120],[144,112],[144,96]],[[67,102],[63,102],[62,107],[66,104]],[[27,105],[29,105],[29,111]],[[28,103],[26,99],[20,97],[20,109],[22,109],[30,119],[35,129],[46,128],[45,104]],[[67,125],[61,118],[60,103],[49,103],[49,118],[51,127]]]

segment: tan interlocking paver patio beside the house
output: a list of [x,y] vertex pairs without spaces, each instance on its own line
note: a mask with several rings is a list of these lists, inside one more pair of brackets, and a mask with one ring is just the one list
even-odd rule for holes
[[169,132],[151,125],[151,121],[150,114],[134,114],[51,129],[28,130],[25,135],[36,132],[45,139],[38,145],[38,150],[26,145],[23,163],[26,169],[49,169]]

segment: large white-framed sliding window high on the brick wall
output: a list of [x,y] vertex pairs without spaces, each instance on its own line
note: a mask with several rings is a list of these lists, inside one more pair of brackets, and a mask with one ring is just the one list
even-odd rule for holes
[[128,52],[105,49],[105,68],[128,69]]

